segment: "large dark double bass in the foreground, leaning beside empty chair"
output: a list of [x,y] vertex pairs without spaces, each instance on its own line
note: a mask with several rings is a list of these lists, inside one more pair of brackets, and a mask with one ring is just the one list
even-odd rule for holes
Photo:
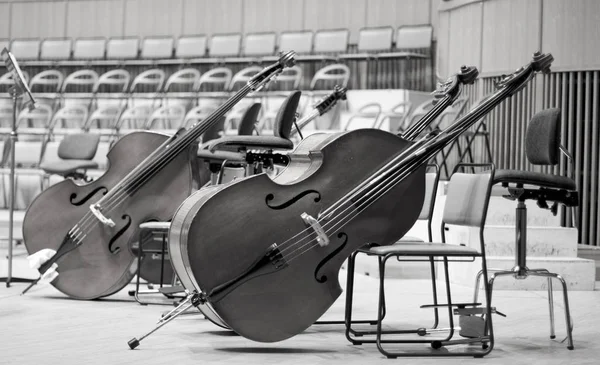
[[374,129],[312,135],[274,180],[200,190],[173,218],[170,250],[183,258],[175,269],[242,336],[274,342],[302,332],[340,295],[338,272],[354,250],[391,244],[413,225],[427,160],[551,62],[536,54],[467,115],[414,143]]

